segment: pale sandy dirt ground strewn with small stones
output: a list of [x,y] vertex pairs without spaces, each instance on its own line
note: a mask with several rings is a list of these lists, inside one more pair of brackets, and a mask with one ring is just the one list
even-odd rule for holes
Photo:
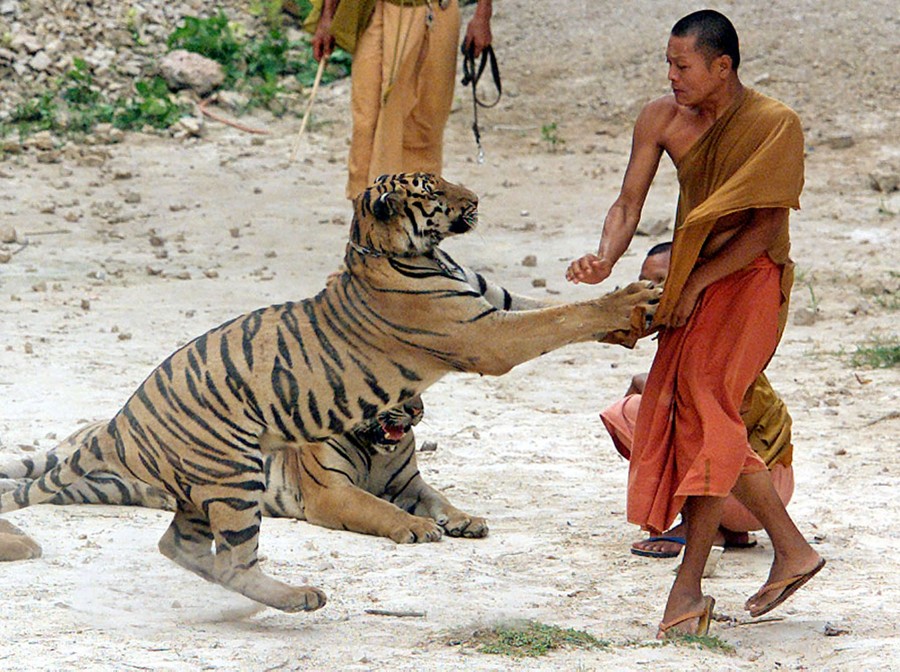
[[[477,232],[449,242],[459,260],[512,290],[594,296],[637,274],[637,237],[613,278],[572,286],[567,263],[594,249],[618,190],[630,124],[666,92],[664,45],[688,2],[495,3],[505,96],[471,100],[447,131],[445,175],[481,197]],[[552,5],[552,6],[551,6]],[[627,464],[598,411],[645,370],[633,351],[581,345],[502,378],[450,376],[425,394],[426,479],[487,516],[483,540],[397,546],[385,539],[266,520],[265,567],[310,582],[311,614],[259,610],[156,550],[169,514],[35,507],[9,515],[43,546],[0,567],[5,670],[887,670],[900,646],[900,375],[854,366],[873,338],[896,338],[900,195],[898,38],[892,2],[725,3],[742,37],[745,83],[786,101],[807,133],[807,186],[793,218],[792,320],[769,367],[794,418],[797,487],[789,510],[825,570],[751,624],[746,597],[771,544],[727,552],[706,584],[711,633],[732,653],[650,644],[676,560],[628,552]],[[110,417],[175,347],[241,312],[314,294],[343,255],[346,82],[321,92],[312,133],[289,162],[296,119],[244,119],[250,136],[209,123],[201,140],[129,135],[0,163],[0,213],[27,245],[0,265],[0,457],[44,450]],[[550,129],[556,124],[556,130]],[[547,127],[542,135],[542,127]],[[553,140],[556,140],[554,142]],[[893,169],[891,168],[893,166]],[[674,211],[664,165],[645,208]],[[523,265],[528,255],[536,265]],[[812,314],[812,319],[810,315]],[[421,612],[401,618],[367,609]],[[475,651],[479,627],[535,619],[611,642],[515,660]]]

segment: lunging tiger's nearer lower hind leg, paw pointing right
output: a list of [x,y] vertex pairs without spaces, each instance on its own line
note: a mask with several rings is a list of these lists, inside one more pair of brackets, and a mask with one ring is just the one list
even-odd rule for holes
[[214,581],[230,590],[282,611],[314,611],[325,593],[312,586],[289,586],[259,568],[257,549],[262,514],[258,501],[211,499],[209,522],[216,542]]

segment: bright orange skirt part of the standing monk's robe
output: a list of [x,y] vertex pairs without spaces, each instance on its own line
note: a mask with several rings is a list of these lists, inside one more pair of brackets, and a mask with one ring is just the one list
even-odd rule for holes
[[666,329],[647,377],[628,474],[628,520],[668,529],[689,496],[725,497],[766,469],[747,441],[744,394],[778,340],[781,267],[762,255],[703,292]]

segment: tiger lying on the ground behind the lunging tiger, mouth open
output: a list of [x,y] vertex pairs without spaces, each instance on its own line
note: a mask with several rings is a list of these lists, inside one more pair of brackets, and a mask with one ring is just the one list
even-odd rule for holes
[[[400,544],[438,541],[442,529],[451,537],[486,536],[484,518],[451,505],[419,473],[412,427],[422,413],[421,398],[413,397],[322,443],[265,454],[262,514],[388,537]],[[87,425],[49,451],[0,465],[0,492],[40,478],[107,424]],[[175,510],[175,500],[165,490],[105,470],[87,474],[45,503]],[[21,541],[20,535],[0,533],[0,559],[40,555],[39,546],[26,547]]]

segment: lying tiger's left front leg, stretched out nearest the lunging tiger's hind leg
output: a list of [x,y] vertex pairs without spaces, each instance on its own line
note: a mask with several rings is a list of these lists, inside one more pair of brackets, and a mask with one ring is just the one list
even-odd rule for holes
[[306,520],[335,530],[349,530],[393,539],[398,544],[438,541],[441,527],[431,518],[402,511],[390,502],[348,482],[345,476],[321,469],[322,444],[304,447],[300,492]]

